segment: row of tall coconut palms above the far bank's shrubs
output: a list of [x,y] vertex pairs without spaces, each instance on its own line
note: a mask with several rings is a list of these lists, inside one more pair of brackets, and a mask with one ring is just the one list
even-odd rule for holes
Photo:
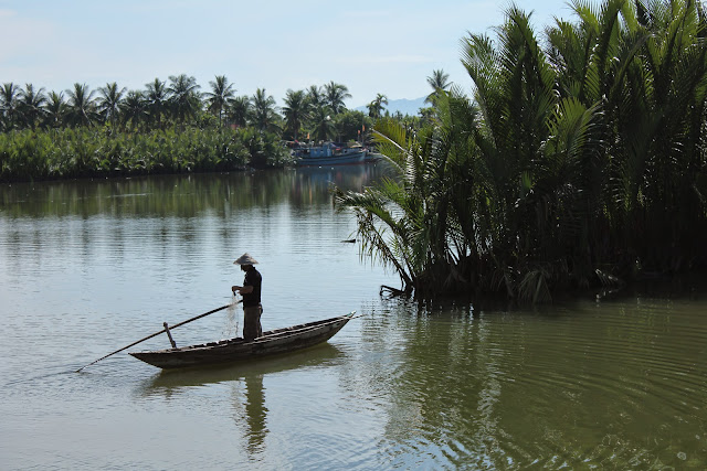
[[[186,74],[170,76],[169,82],[155,78],[141,90],[127,90],[113,82],[97,89],[76,83],[65,92],[46,93],[33,84],[4,83],[0,88],[0,131],[103,125],[149,131],[204,119],[275,130],[284,138],[297,138],[306,131],[325,140],[350,131],[335,119],[348,111],[345,100],[351,97],[342,84],[287,90],[282,115],[264,88],[252,96],[238,96],[224,75],[217,75],[209,86],[208,92],[200,92],[196,78]],[[347,137],[356,136],[348,132]]]

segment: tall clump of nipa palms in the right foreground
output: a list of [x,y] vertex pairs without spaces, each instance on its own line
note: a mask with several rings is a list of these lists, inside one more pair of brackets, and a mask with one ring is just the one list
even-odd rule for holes
[[542,40],[511,6],[496,41],[463,40],[473,99],[378,125],[400,178],[338,202],[403,290],[541,302],[707,264],[701,3],[571,6]]

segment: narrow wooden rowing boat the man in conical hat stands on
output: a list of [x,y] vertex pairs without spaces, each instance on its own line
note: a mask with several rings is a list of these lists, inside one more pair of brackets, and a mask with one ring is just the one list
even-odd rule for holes
[[350,312],[338,318],[263,332],[262,336],[250,342],[235,338],[167,350],[130,352],[130,355],[159,368],[180,368],[289,353],[331,339],[354,314]]

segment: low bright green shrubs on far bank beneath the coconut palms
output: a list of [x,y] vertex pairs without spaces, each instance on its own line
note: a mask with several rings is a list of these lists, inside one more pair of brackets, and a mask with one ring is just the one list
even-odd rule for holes
[[211,172],[282,165],[274,135],[244,129],[169,128],[117,132],[78,127],[0,133],[0,181]]

